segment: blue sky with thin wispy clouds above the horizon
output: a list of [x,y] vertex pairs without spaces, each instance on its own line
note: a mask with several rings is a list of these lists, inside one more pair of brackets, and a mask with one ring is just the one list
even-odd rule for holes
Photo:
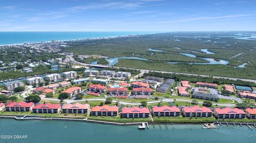
[[256,0],[0,0],[0,31],[256,30]]

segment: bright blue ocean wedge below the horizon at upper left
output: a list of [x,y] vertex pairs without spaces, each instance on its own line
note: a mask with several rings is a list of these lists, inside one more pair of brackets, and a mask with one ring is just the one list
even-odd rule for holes
[[128,36],[145,33],[145,31],[124,31],[124,32],[0,32],[0,45],[22,44],[25,42],[39,43],[41,41],[76,40],[86,38],[102,38]]

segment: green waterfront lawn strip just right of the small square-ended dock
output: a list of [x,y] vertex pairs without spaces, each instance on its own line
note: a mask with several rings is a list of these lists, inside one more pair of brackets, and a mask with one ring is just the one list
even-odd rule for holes
[[153,117],[154,122],[161,123],[212,123],[215,122],[216,119],[214,117]]

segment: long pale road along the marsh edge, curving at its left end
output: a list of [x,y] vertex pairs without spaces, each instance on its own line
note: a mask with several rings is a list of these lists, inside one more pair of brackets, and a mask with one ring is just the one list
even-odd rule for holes
[[211,76],[211,75],[202,75],[202,74],[190,74],[190,73],[178,73],[178,72],[166,72],[166,71],[154,71],[154,70],[143,70],[143,69],[133,69],[133,68],[123,68],[119,66],[108,66],[108,65],[93,65],[93,64],[85,64],[76,61],[73,56],[68,55],[67,58],[69,58],[70,61],[76,63],[76,64],[81,64],[84,66],[98,66],[100,68],[117,68],[117,69],[131,69],[131,70],[140,70],[141,72],[159,72],[159,73],[171,73],[171,74],[182,74],[182,75],[193,75],[193,76],[200,76],[200,77],[212,77],[215,79],[230,79],[230,80],[241,80],[241,81],[249,81],[249,82],[254,82],[256,83],[256,80],[253,79],[240,79],[240,78],[229,78],[229,77],[220,77],[220,76]]

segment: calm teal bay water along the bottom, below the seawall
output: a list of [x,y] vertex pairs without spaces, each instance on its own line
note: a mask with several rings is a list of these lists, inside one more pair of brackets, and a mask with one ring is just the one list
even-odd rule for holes
[[[64,128],[67,127],[67,128]],[[167,127],[167,128],[166,128]],[[27,135],[28,139],[0,139],[0,142],[255,142],[256,130],[244,127],[201,129],[203,125],[116,126],[71,121],[16,121],[0,119],[2,134]],[[246,135],[247,134],[247,135]]]

